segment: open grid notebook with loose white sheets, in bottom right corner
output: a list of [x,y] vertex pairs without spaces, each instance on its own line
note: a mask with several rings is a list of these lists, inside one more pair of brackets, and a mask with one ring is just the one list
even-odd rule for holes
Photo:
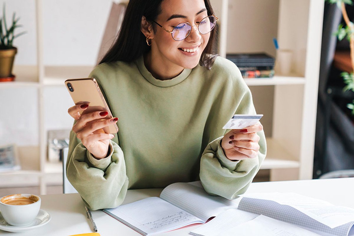
[[292,193],[243,195],[229,209],[193,230],[194,236],[353,235],[354,209]]

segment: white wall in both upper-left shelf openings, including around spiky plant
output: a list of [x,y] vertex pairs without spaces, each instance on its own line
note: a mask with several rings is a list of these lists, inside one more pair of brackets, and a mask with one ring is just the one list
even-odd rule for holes
[[[7,22],[12,13],[27,34],[14,40],[17,65],[36,65],[35,0],[0,0],[6,3]],[[94,65],[112,0],[42,0],[43,59],[45,65]]]

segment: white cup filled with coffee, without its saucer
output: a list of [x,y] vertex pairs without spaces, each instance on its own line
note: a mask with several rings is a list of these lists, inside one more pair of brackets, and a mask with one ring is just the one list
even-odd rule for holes
[[0,198],[0,210],[6,222],[13,226],[32,223],[41,207],[41,198],[33,194],[12,194]]

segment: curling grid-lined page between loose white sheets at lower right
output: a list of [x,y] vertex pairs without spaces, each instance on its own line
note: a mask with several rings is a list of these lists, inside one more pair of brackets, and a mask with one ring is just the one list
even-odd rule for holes
[[349,222],[332,229],[291,206],[281,205],[270,200],[242,197],[238,209],[332,235],[347,236],[353,226],[353,223]]

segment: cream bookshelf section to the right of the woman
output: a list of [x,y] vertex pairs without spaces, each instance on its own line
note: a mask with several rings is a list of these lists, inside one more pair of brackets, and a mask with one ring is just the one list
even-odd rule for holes
[[[271,79],[245,82],[257,112],[264,114],[268,154],[261,169],[270,169],[270,180],[312,179],[324,1],[211,2],[216,16],[221,16],[221,56],[276,56],[273,38],[280,48],[293,52],[289,76],[279,76],[275,68]],[[269,106],[273,109],[264,108]]]

